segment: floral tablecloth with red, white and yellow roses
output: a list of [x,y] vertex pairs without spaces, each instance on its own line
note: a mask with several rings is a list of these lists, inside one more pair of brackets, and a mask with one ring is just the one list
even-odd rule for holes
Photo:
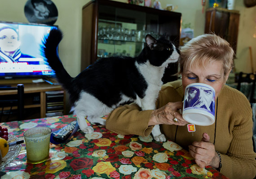
[[[74,120],[75,115],[64,115],[0,125],[22,140],[29,128],[48,126],[54,132]],[[66,143],[51,143],[50,158],[39,164],[26,162],[22,144],[2,179],[226,179],[210,166],[199,168],[188,151],[172,141],[155,142],[152,136],[124,136],[92,126],[91,134],[78,130]]]

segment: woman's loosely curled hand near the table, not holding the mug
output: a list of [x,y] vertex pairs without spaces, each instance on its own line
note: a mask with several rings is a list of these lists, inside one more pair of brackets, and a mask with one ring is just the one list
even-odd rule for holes
[[220,165],[215,146],[210,142],[210,136],[207,133],[203,133],[201,141],[194,141],[192,145],[189,145],[189,152],[194,157],[196,164],[201,168],[208,165],[218,168]]

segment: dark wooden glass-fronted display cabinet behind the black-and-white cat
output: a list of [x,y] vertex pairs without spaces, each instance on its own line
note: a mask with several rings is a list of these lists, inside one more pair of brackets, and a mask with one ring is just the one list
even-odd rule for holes
[[[83,7],[81,70],[97,59],[140,54],[146,34],[166,34],[179,47],[181,13],[112,0],[93,0]],[[163,82],[174,81],[178,64],[169,64]]]

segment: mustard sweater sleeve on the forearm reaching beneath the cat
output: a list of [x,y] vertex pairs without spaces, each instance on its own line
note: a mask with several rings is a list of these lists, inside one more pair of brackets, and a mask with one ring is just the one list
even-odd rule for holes
[[135,103],[116,108],[106,119],[106,128],[118,134],[148,136],[153,126],[148,126],[153,110],[141,111]]

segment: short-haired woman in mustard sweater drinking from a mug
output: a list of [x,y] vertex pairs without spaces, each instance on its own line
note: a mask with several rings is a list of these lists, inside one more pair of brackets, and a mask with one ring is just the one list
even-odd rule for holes
[[[181,47],[182,80],[162,86],[156,110],[141,111],[134,103],[118,107],[108,116],[106,128],[120,134],[148,136],[155,124],[161,124],[163,134],[189,149],[200,167],[212,166],[230,179],[254,178],[252,109],[242,93],[225,85],[233,55],[230,44],[214,34],[193,38]],[[191,83],[211,85],[216,92],[215,123],[196,126],[193,135],[178,112],[185,87]]]

